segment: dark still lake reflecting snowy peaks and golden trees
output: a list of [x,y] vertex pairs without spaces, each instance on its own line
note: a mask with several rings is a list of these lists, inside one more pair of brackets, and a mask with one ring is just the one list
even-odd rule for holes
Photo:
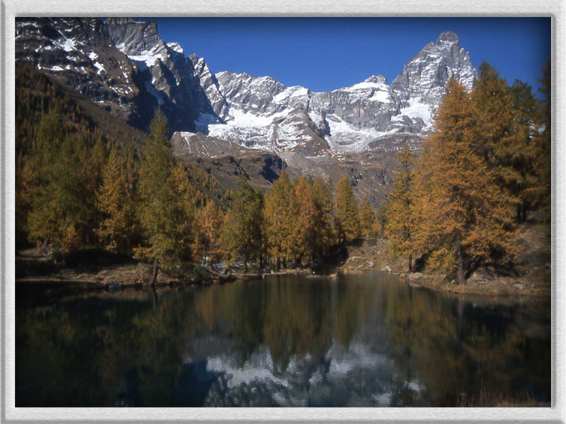
[[548,401],[550,302],[455,298],[381,273],[57,303],[16,293],[16,406]]

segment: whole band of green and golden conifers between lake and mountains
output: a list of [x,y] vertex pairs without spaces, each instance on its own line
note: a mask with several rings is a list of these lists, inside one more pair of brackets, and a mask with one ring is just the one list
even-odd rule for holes
[[[16,244],[59,246],[62,257],[99,245],[151,261],[156,281],[160,266],[180,261],[243,261],[244,272],[315,266],[359,237],[386,237],[409,271],[419,257],[465,283],[474,266],[519,252],[516,223],[529,213],[550,221],[550,66],[541,82],[539,101],[485,62],[470,93],[451,79],[433,134],[418,158],[405,144],[377,213],[354,199],[347,176],[332,187],[282,172],[267,193],[245,177],[222,191],[175,160],[160,110],[139,148],[105,138],[52,87],[51,100],[35,106],[33,90],[22,88]],[[207,199],[203,185],[225,203]]]

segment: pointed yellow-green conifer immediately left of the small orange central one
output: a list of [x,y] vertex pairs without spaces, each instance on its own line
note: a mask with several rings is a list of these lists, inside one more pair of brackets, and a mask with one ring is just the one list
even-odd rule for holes
[[339,243],[357,239],[361,235],[356,199],[347,175],[336,186],[335,225]]

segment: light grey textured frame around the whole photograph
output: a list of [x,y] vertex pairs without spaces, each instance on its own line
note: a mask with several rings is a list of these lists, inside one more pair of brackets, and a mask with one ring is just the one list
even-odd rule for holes
[[[434,11],[434,13],[431,13]],[[565,30],[562,0],[158,0],[143,5],[136,0],[7,0],[0,1],[1,68],[0,107],[2,134],[1,197],[1,339],[2,384],[1,422],[565,422],[565,300],[557,287],[566,266],[557,263],[565,257],[564,170],[557,167],[565,158]],[[553,18],[553,407],[552,408],[14,408],[14,17],[16,16],[552,16]],[[8,81],[6,85],[6,81]],[[4,212],[6,211],[6,212]],[[558,216],[557,216],[558,214]],[[560,329],[560,331],[556,331]]]

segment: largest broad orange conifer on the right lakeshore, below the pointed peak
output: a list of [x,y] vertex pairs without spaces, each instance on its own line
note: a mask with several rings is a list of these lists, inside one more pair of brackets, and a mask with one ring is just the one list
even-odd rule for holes
[[[470,265],[497,252],[516,252],[509,213],[512,198],[497,184],[499,174],[478,154],[473,102],[454,78],[435,117],[436,132],[426,142],[420,240],[432,251],[433,265],[456,271],[466,283]],[[391,216],[391,215],[390,215]]]

